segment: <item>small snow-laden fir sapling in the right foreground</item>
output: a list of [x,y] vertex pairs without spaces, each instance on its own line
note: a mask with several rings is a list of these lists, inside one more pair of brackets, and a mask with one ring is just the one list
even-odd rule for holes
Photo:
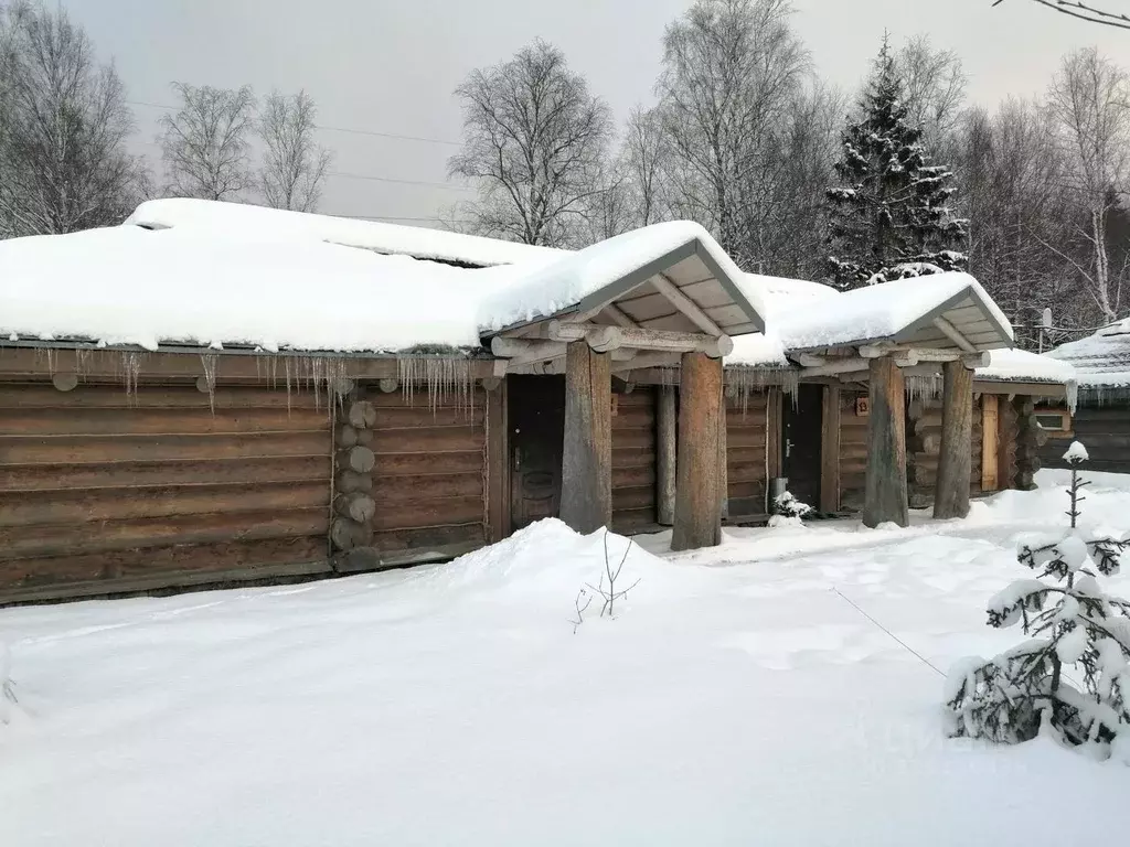
[[1088,483],[1079,465],[1087,451],[1076,442],[1063,459],[1071,465],[1071,529],[1022,543],[1017,559],[1038,569],[1038,578],[1012,583],[988,605],[989,626],[1019,621],[1029,638],[991,662],[968,660],[950,672],[948,728],[953,736],[1009,744],[1045,733],[1130,763],[1130,603],[1098,585],[1099,576],[1118,574],[1130,541],[1088,540],[1080,531],[1080,491]]

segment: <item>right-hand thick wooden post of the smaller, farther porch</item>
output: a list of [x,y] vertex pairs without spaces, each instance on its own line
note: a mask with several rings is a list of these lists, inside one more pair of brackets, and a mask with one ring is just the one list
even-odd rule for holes
[[933,516],[970,514],[970,464],[973,433],[973,370],[960,360],[942,365],[941,453],[933,489]]

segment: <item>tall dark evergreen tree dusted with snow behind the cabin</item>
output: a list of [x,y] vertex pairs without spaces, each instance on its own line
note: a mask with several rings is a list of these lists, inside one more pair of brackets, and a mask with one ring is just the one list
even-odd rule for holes
[[849,289],[964,270],[958,250],[966,221],[947,206],[953,173],[927,160],[886,37],[860,112],[843,133],[840,185],[827,192],[828,265],[836,285]]

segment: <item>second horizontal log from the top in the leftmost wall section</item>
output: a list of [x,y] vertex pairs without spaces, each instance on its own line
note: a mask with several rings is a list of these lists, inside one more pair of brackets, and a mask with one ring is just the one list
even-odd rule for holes
[[325,409],[53,409],[0,408],[0,437],[9,435],[164,435],[286,433],[329,429]]

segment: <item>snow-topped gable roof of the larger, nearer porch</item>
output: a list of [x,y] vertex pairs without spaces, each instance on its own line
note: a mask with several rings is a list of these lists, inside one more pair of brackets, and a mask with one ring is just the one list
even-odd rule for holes
[[653,224],[541,264],[519,283],[486,298],[479,326],[486,333],[566,312],[615,303],[644,329],[701,331],[655,283],[672,283],[731,335],[764,329],[765,307],[741,270],[698,224]]

